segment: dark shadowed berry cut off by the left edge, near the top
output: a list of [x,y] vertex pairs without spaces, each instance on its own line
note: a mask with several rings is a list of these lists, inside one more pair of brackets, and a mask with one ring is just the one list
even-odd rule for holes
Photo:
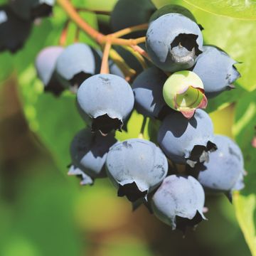
[[23,46],[30,32],[30,21],[18,18],[9,6],[0,6],[0,52],[10,50],[15,53]]

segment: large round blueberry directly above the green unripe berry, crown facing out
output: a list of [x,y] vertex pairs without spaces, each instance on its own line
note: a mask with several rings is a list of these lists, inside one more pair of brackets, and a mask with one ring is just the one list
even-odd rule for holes
[[149,24],[146,49],[153,63],[167,72],[191,68],[203,50],[196,22],[181,14],[165,14]]

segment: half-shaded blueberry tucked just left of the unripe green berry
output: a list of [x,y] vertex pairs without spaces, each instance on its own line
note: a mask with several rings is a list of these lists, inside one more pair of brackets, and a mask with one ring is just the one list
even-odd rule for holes
[[167,75],[159,68],[148,68],[140,73],[132,84],[135,97],[135,108],[148,117],[158,117],[166,103],[163,97],[163,86]]

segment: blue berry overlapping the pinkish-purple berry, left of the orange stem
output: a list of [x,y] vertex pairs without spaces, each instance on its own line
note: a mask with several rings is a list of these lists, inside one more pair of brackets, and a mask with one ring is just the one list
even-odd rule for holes
[[56,73],[60,82],[76,91],[81,83],[95,74],[95,54],[84,43],[73,43],[57,59]]

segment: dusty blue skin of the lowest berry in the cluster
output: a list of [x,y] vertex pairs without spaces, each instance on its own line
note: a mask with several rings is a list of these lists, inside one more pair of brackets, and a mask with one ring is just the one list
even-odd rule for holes
[[[201,184],[192,176],[171,175],[164,178],[151,201],[159,220],[176,229],[176,217],[192,220],[196,213],[203,215],[205,194]],[[178,227],[177,227],[178,228]]]

